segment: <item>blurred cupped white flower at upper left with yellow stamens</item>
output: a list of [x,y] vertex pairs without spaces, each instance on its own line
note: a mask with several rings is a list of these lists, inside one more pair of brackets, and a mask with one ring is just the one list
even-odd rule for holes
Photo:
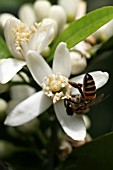
[[54,37],[51,22],[42,22],[29,27],[17,18],[9,19],[4,28],[7,46],[14,58],[0,60],[0,83],[5,84],[26,65],[29,50],[41,53]]

